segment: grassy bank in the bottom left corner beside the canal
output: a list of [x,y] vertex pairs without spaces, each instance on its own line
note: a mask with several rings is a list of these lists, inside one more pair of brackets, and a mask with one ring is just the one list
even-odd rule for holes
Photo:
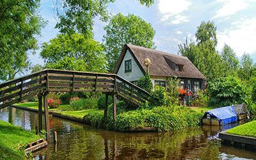
[[34,132],[0,120],[0,159],[26,159],[22,151],[29,143],[40,139]]

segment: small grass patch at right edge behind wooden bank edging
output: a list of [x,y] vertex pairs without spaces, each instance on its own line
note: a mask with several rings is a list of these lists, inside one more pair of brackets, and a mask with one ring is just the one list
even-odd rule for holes
[[239,136],[248,136],[256,138],[256,120],[239,125],[226,131],[228,134],[236,134]]

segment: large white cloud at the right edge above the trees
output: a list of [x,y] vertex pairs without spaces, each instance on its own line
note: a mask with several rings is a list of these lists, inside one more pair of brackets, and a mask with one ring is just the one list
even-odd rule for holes
[[237,56],[242,56],[244,52],[256,52],[256,17],[239,20],[232,23],[232,26],[236,28],[217,33],[218,50],[221,51],[223,45],[227,44],[234,49]]

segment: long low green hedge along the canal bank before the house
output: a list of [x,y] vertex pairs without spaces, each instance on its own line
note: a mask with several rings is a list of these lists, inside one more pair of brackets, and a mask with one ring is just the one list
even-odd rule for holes
[[115,130],[154,127],[157,131],[173,131],[200,124],[202,114],[190,108],[175,106],[128,111],[116,116]]

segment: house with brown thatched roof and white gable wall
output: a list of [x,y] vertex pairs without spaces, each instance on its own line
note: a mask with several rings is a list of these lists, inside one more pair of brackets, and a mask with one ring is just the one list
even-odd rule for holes
[[206,77],[187,57],[131,44],[124,45],[114,72],[136,83],[147,70],[147,58],[151,62],[148,70],[154,85],[166,86],[166,79],[175,76],[181,79],[181,88],[187,88],[192,92],[205,89]]

